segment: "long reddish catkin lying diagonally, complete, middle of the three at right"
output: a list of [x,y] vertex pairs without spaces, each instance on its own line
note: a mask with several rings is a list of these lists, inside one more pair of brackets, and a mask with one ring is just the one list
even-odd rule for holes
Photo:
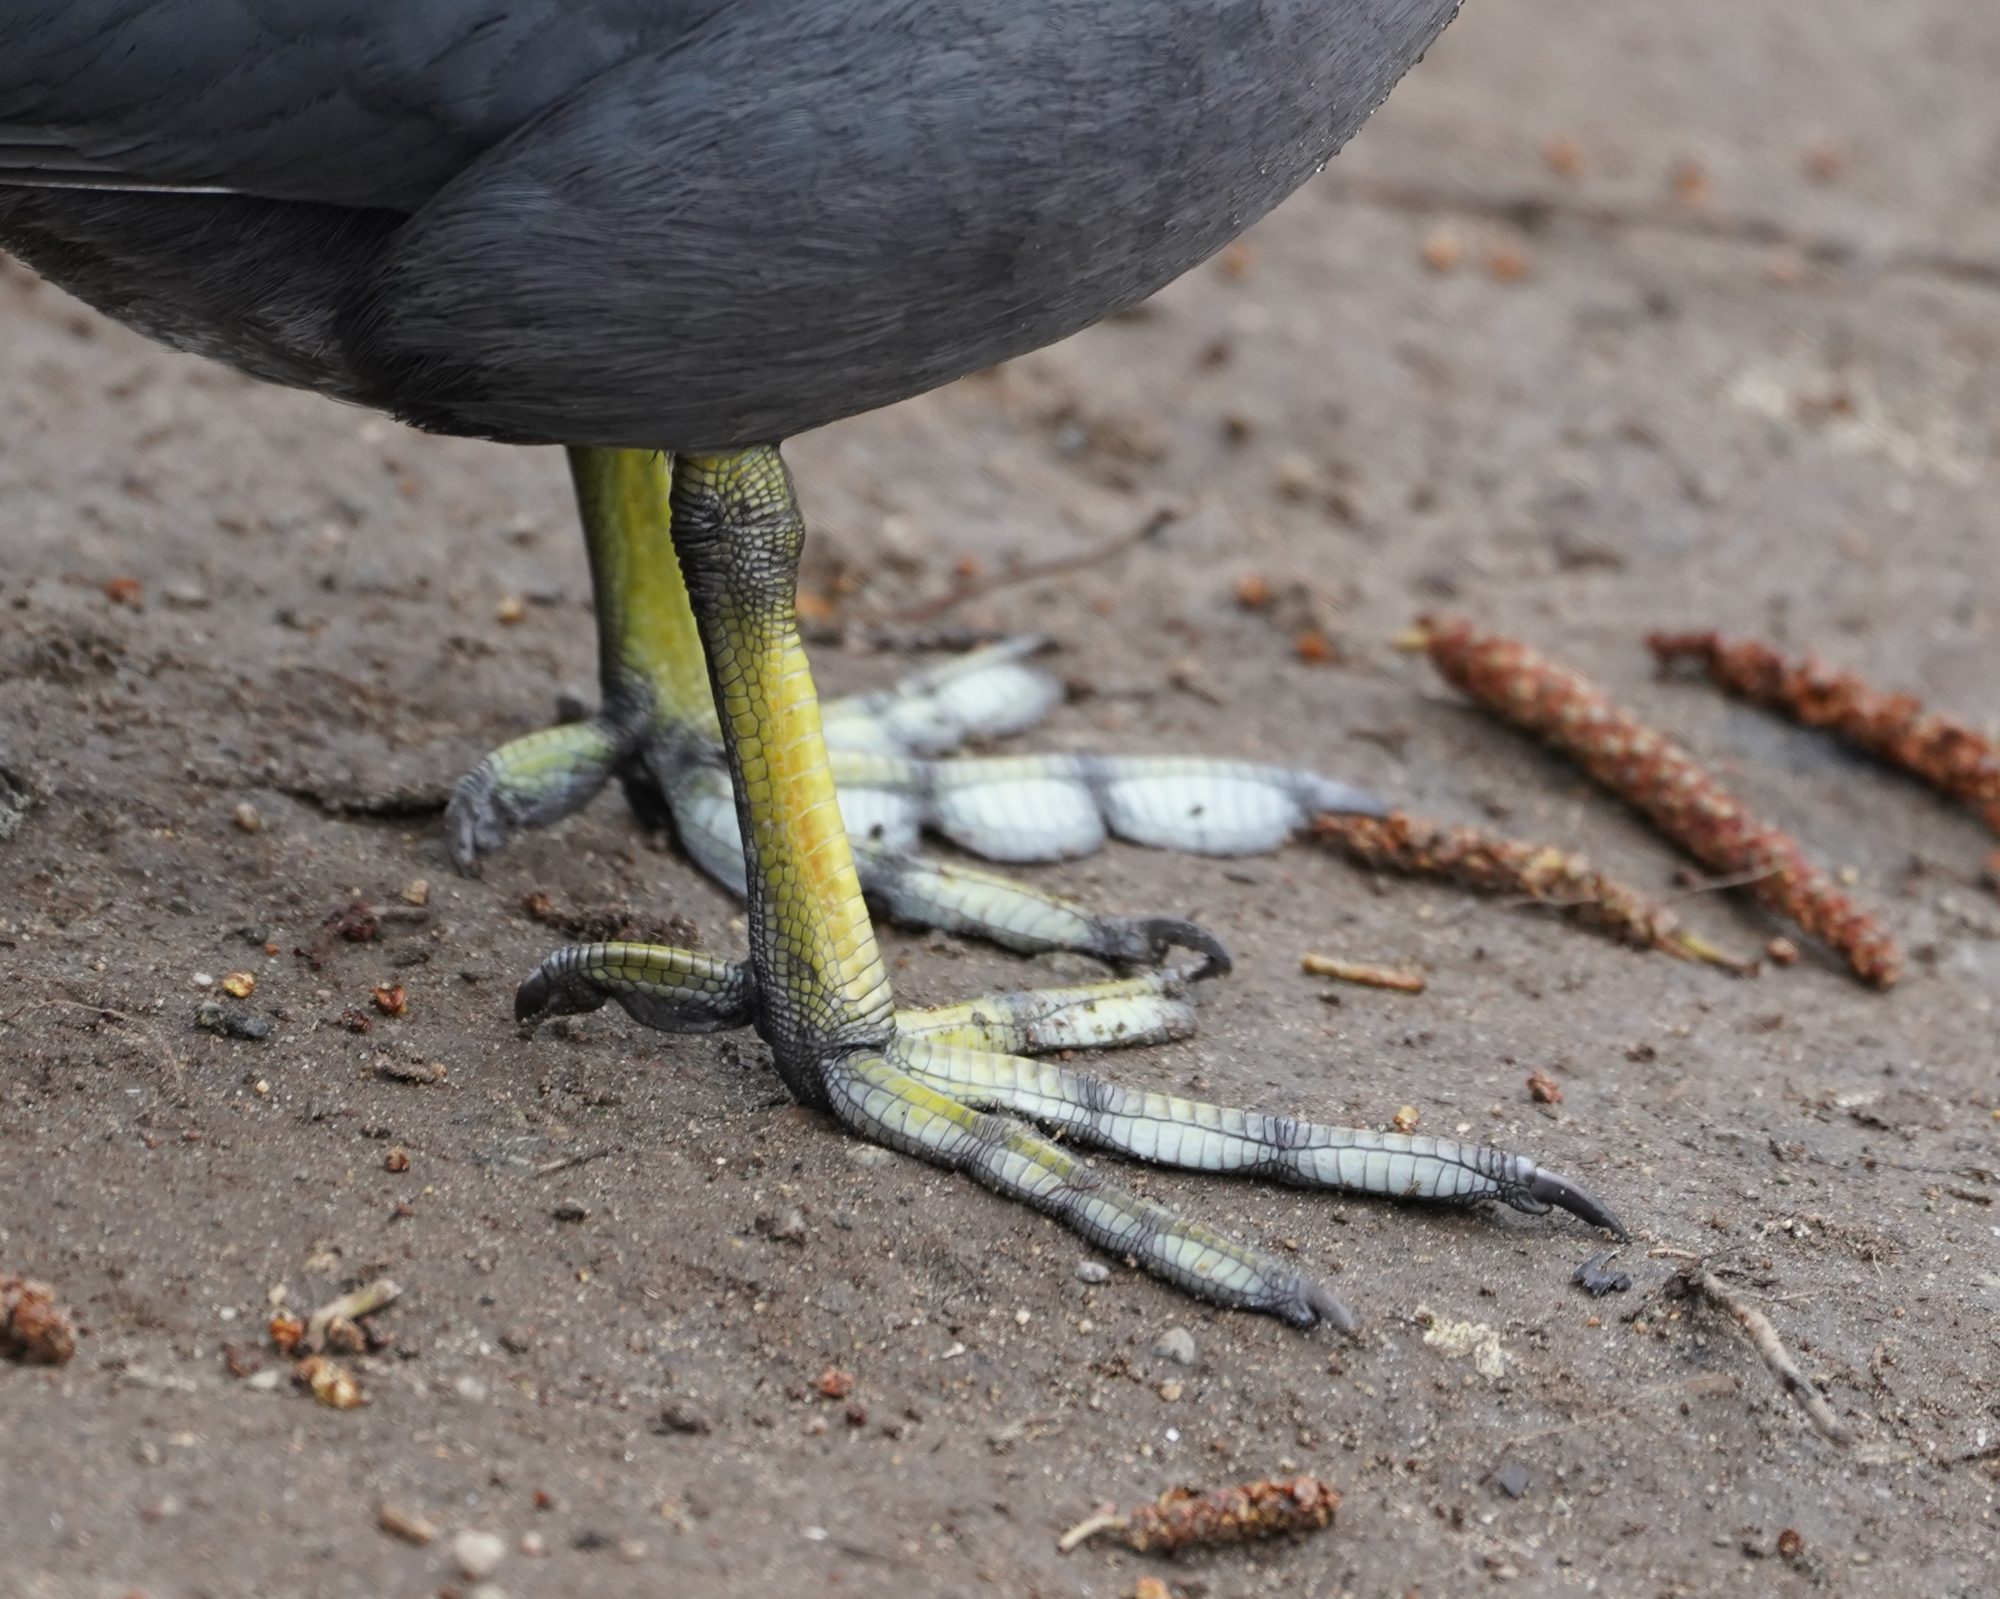
[[1798,839],[1758,821],[1680,746],[1646,728],[1588,678],[1466,618],[1424,618],[1432,664],[1458,690],[1540,738],[1644,813],[1710,871],[1746,887],[1888,987],[1902,951],[1880,921],[1814,865]]

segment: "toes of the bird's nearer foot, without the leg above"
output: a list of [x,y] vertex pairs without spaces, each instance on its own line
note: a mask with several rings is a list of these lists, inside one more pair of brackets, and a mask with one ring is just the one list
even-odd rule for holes
[[[1200,1299],[1264,1311],[1294,1327],[1326,1321],[1352,1331],[1354,1317],[1296,1267],[1118,1187],[1044,1131],[1152,1165],[1296,1187],[1446,1203],[1492,1199],[1532,1213],[1556,1205],[1624,1237],[1618,1219],[1582,1187],[1492,1145],[1320,1125],[1128,1089],[1046,1059],[1188,1037],[1188,983],[1204,971],[1206,957],[1190,971],[904,1007],[888,1037],[812,1059],[808,1097],[860,1137],[964,1171]],[[664,1031],[716,1031],[760,1019],[748,965],[636,943],[558,949],[522,983],[516,1015],[536,1023],[612,999]]]

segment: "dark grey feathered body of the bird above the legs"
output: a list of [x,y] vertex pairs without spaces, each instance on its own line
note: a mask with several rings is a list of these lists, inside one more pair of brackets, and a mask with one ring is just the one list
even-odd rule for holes
[[442,432],[780,440],[1144,298],[1454,10],[34,0],[0,10],[0,246]]

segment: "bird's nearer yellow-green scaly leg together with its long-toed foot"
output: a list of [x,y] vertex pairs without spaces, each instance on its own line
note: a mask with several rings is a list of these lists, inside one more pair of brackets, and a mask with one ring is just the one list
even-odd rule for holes
[[748,1019],[792,1095],[850,1131],[964,1171],[1188,1293],[1298,1327],[1352,1327],[1352,1317],[1292,1267],[1108,1183],[1016,1115],[1160,1165],[1386,1197],[1560,1205],[1618,1231],[1580,1187],[1500,1149],[1128,1091],[1026,1057],[1184,1035],[1192,1011],[1180,973],[896,1011],[792,610],[804,532],[790,476],[768,448],[690,456],[674,468],[672,498],[734,778],[750,961],[626,943],[562,949],[522,985],[524,1021],[606,999],[670,1031]]

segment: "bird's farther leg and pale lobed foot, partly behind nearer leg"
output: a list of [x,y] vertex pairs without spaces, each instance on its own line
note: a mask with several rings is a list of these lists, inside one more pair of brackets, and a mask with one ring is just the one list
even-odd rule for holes
[[[674,554],[672,464],[644,450],[570,450],[598,614],[602,710],[502,746],[466,774],[448,811],[452,857],[466,871],[518,827],[558,821],[614,776],[634,807],[672,823],[682,847],[744,891],[736,801],[702,666],[702,642]],[[1200,758],[1002,758],[938,762],[968,738],[1032,726],[1062,698],[1026,664],[1038,640],[972,650],[876,694],[824,706],[834,782],[856,839],[862,891],[884,915],[984,937],[1006,949],[1070,949],[1156,965],[1174,947],[1212,971],[1228,955],[1188,921],[1098,915],[1072,899],[916,851],[946,831],[976,853],[1062,859],[1104,837],[1100,809],[1126,835],[1214,849],[1262,827],[1274,847],[1314,809],[1366,800],[1328,780]]]

